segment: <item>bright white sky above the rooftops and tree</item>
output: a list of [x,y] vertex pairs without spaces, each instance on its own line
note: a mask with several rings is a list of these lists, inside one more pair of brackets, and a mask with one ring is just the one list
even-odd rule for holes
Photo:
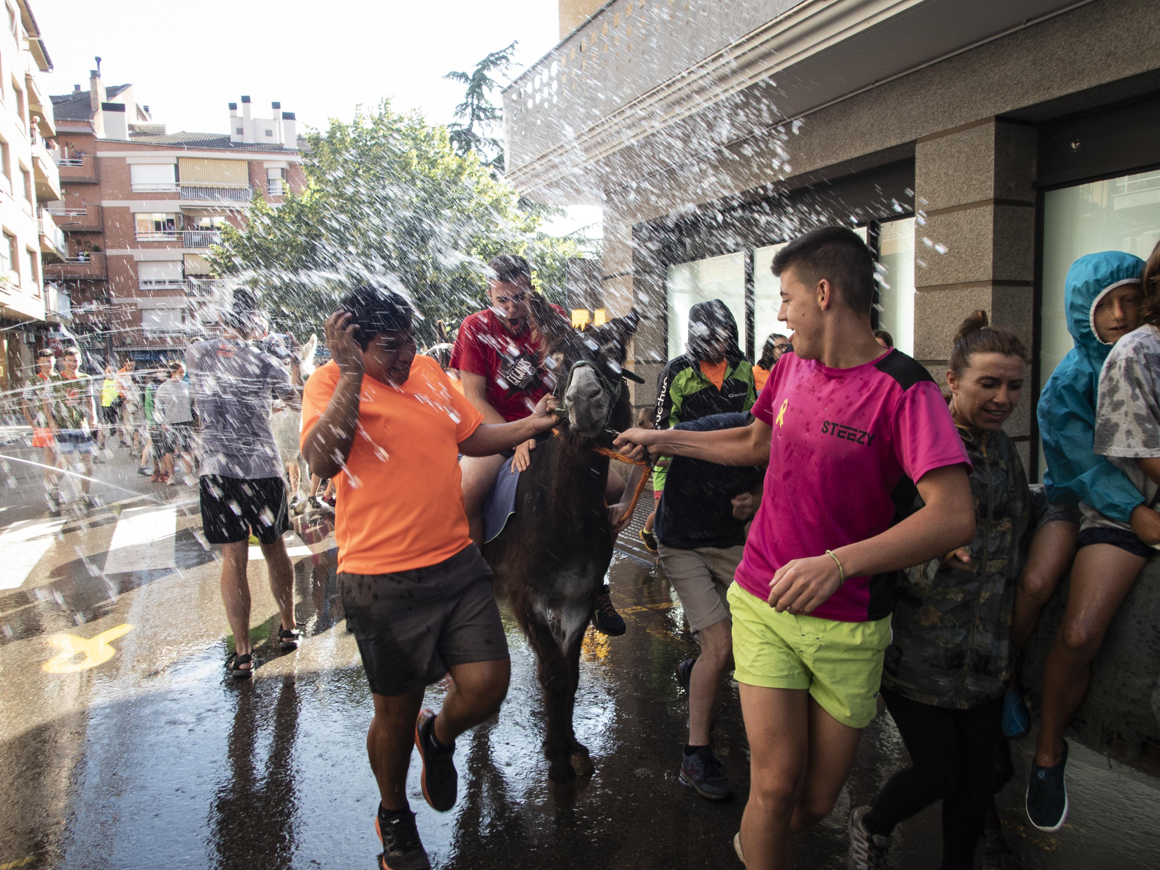
[[[356,106],[384,96],[396,109],[447,123],[463,86],[444,73],[470,71],[513,41],[517,61],[531,65],[559,38],[557,0],[31,0],[31,7],[55,65],[41,77],[45,90],[87,90],[100,56],[104,84],[133,84],[137,102],[171,132],[226,132],[229,103],[242,94],[253,99],[255,117],[270,117],[270,102],[281,101],[299,130],[331,117],[349,121]],[[592,209],[581,212],[557,230],[594,219]]]

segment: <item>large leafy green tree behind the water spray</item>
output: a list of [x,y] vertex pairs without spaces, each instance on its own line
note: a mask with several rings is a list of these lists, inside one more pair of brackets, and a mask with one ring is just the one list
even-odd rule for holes
[[541,232],[542,216],[476,152],[456,153],[445,128],[384,101],[307,143],[305,189],[277,209],[255,198],[246,227],[226,227],[210,252],[216,274],[251,287],[281,328],[320,333],[341,293],[370,282],[406,295],[432,343],[436,320],[457,326],[481,307],[484,266],[500,253],[528,258],[537,288],[563,300],[575,241]]

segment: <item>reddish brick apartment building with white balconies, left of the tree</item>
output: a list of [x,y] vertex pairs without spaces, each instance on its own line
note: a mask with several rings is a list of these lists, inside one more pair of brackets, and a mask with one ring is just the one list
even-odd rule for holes
[[74,331],[97,356],[179,355],[223,302],[206,253],[255,197],[304,184],[293,113],[255,118],[230,103],[225,133],[167,133],[132,85],[52,97],[68,256],[48,268],[73,295]]

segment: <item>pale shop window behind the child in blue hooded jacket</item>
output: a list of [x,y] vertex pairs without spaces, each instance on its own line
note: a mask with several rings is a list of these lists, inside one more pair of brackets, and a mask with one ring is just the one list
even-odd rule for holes
[[[1049,190],[1043,201],[1043,290],[1039,306],[1039,384],[1072,349],[1064,282],[1085,254],[1125,251],[1147,260],[1160,241],[1160,172]],[[1041,451],[1039,476],[1046,466]]]

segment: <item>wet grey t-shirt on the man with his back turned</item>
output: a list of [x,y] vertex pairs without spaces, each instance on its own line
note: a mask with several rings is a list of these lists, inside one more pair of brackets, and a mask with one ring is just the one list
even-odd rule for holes
[[241,341],[198,341],[186,350],[190,392],[202,419],[201,473],[242,480],[282,477],[270,430],[273,396],[297,398],[290,375]]

